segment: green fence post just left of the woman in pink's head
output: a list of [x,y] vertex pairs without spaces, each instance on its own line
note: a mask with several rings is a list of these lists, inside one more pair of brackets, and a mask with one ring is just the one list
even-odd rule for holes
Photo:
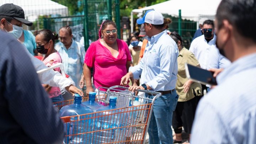
[[88,36],[88,3],[87,0],[84,0],[84,42],[85,42],[85,51],[89,47],[89,36]]

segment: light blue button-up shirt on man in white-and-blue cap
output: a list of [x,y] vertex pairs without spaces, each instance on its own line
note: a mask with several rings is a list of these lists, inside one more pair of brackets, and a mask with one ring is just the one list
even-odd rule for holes
[[178,47],[166,30],[148,38],[148,44],[142,60],[130,67],[134,79],[141,75],[142,84],[147,84],[155,91],[175,89],[177,81]]

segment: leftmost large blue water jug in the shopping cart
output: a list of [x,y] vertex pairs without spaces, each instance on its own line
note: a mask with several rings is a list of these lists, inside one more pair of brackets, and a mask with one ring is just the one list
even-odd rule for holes
[[[78,94],[75,94],[74,97],[74,104],[64,106],[60,109],[60,117],[64,116],[76,116],[86,113],[93,113],[91,108],[84,106],[81,104],[82,97]],[[85,118],[91,118],[92,114],[85,115],[85,116],[79,116],[78,117],[71,117],[71,122],[67,123],[65,125],[66,127],[66,134],[78,134],[73,135],[69,137],[65,137],[64,142],[65,144],[90,144],[92,135],[89,134],[80,134],[89,132],[92,130],[92,120],[91,119],[85,119]],[[80,120],[85,119],[85,120]],[[73,122],[72,122],[73,121]]]

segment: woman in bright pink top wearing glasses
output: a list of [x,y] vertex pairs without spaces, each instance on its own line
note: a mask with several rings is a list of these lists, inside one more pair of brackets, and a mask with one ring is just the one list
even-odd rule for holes
[[[127,43],[117,38],[116,23],[110,20],[102,22],[99,37],[90,44],[85,54],[84,77],[87,95],[94,91],[91,84],[91,68],[97,89],[100,86],[120,85],[122,76],[133,66]],[[134,80],[131,81],[133,84]]]

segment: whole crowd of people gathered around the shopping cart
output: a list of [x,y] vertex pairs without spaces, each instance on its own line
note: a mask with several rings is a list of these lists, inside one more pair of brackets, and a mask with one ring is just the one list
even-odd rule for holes
[[[22,28],[33,23],[20,6],[1,5],[0,143],[62,143],[63,123],[53,102],[121,85],[135,95],[139,89],[161,93],[148,126],[150,144],[253,144],[255,6],[255,0],[222,0],[215,21],[199,20],[189,48],[158,11],[146,11],[137,20],[140,31],[127,42],[118,38],[116,23],[106,20],[85,52],[69,26],[32,33]],[[218,85],[188,79],[185,64],[211,71]]]

